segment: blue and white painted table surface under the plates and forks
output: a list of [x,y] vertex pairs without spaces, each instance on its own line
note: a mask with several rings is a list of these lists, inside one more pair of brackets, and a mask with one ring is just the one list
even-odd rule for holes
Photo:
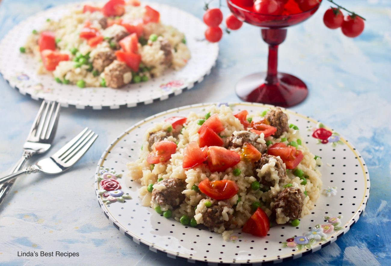
[[[0,38],[27,16],[65,2],[3,0]],[[199,0],[156,2],[177,6],[199,18],[204,13]],[[289,28],[280,46],[279,70],[297,75],[308,85],[308,98],[292,109],[332,126],[361,152],[369,169],[371,195],[364,215],[346,235],[286,265],[391,265],[391,1],[338,2],[367,19],[364,32],[350,39],[340,30],[326,28],[322,17],[329,5],[325,2],[308,21]],[[225,35],[220,49],[212,73],[179,96],[121,110],[63,108],[54,151],[85,126],[95,130],[99,138],[62,176],[35,174],[16,181],[0,206],[0,264],[187,265],[151,252],[120,234],[98,207],[93,176],[108,144],[135,122],[188,104],[240,101],[233,84],[246,74],[265,69],[267,46],[259,28],[244,25]],[[0,173],[7,174],[21,155],[40,102],[22,96],[2,78],[0,88]],[[41,250],[80,255],[17,256],[18,251]]]

